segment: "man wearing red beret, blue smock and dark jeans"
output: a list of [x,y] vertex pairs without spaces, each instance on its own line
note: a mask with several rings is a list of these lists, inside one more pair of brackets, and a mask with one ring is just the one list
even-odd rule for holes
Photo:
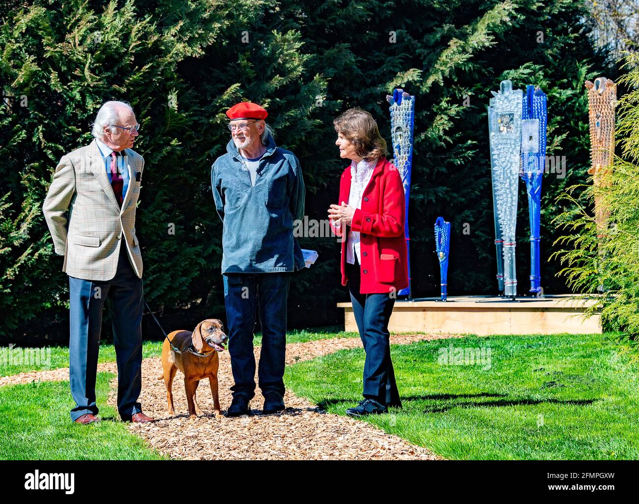
[[304,180],[295,155],[275,145],[265,109],[242,102],[226,115],[231,141],[213,163],[211,185],[222,219],[224,304],[235,381],[227,416],[250,414],[256,313],[262,327],[263,413],[276,413],[284,410],[289,277],[305,265],[293,236],[293,221],[304,218]]

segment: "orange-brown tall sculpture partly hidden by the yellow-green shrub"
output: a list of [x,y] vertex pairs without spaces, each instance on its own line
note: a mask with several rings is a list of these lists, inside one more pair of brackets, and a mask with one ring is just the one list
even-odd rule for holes
[[[603,175],[608,173],[615,152],[615,103],[617,84],[606,77],[598,77],[594,83],[586,81],[588,114],[590,118],[590,169],[595,185],[608,185]],[[595,196],[595,221],[599,233],[608,227],[608,212],[601,207],[601,196]]]

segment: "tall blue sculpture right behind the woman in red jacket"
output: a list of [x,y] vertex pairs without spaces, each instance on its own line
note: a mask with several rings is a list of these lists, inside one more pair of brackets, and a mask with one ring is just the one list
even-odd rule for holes
[[415,97],[396,89],[393,95],[387,95],[390,103],[390,134],[393,142],[394,164],[399,170],[404,184],[406,198],[406,220],[404,221],[404,235],[408,249],[408,287],[397,294],[410,297],[410,237],[408,235],[408,200],[410,198],[410,171],[413,164],[413,129],[415,125]]

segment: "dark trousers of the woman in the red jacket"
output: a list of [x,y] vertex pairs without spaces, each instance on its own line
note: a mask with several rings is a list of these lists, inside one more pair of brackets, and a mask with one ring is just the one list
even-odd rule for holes
[[389,294],[360,294],[360,265],[346,264],[353,315],[359,329],[364,361],[364,397],[384,406],[401,406],[393,363],[390,361],[389,320],[395,298]]

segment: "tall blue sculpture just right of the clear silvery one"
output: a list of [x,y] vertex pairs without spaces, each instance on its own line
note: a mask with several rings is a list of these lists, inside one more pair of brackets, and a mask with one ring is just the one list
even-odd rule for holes
[[526,86],[521,111],[521,178],[528,193],[530,220],[530,292],[541,290],[539,270],[539,218],[541,180],[546,162],[546,94],[535,86]]

